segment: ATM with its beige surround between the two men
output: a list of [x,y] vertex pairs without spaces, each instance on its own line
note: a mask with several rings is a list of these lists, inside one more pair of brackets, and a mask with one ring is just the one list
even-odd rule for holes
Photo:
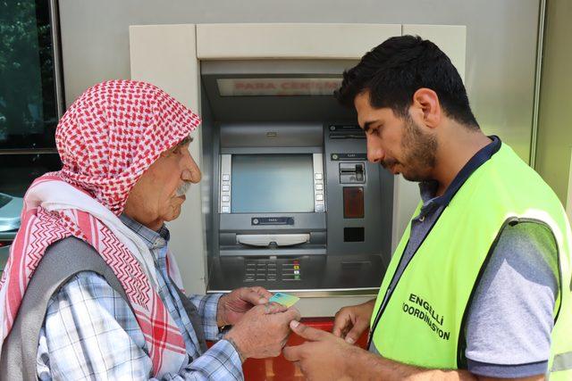
[[189,293],[265,286],[306,296],[303,316],[377,294],[418,188],[367,162],[355,112],[332,93],[343,70],[402,34],[432,39],[463,77],[463,26],[130,27],[131,78],[203,119],[190,146],[203,180],[169,224]]

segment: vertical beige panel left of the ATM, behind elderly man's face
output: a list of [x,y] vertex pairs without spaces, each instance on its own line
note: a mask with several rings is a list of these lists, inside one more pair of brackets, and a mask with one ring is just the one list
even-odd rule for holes
[[[131,79],[161,87],[198,111],[198,61],[195,25],[150,25],[130,27]],[[193,133],[189,151],[201,166],[200,128]],[[191,186],[182,204],[181,216],[168,222],[169,247],[175,254],[187,293],[206,291],[205,218],[200,185]]]

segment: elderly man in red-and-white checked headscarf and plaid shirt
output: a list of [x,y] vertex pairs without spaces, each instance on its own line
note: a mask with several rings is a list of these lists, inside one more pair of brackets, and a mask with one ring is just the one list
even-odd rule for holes
[[63,115],[63,169],[29,187],[0,285],[0,377],[242,379],[243,360],[280,353],[299,312],[264,288],[181,291],[164,221],[200,180],[188,150],[199,122],[127,80],[89,88]]

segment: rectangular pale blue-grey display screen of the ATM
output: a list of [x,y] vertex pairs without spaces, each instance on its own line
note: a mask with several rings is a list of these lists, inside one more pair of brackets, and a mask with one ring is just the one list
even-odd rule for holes
[[314,211],[312,154],[233,154],[232,213]]

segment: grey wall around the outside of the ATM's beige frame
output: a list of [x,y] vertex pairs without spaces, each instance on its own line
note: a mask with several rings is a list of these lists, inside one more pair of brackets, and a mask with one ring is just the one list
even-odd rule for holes
[[466,25],[465,77],[477,120],[486,133],[498,134],[528,160],[538,0],[60,0],[59,3],[68,104],[98,81],[130,78],[128,28],[135,24]]

